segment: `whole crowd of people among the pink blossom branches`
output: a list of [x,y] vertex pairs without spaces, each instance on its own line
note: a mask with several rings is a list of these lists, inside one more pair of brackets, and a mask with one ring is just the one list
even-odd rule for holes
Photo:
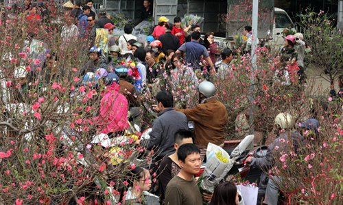
[[[13,10],[16,10],[16,6],[13,6]],[[40,23],[49,20],[49,11],[44,3],[34,5],[28,0],[23,8],[27,14],[25,19],[29,20],[29,25],[25,28],[27,36],[34,38]],[[228,115],[225,105],[216,98],[217,90],[211,80],[213,78],[224,80],[230,74],[232,70],[229,65],[233,60],[234,52],[223,49],[222,59],[216,63],[217,44],[214,42],[213,33],[204,33],[202,40],[199,25],[190,25],[184,30],[180,27],[179,17],[174,18],[174,24],[169,23],[169,19],[164,16],[159,18],[158,25],[152,36],[147,37],[145,44],[137,42],[137,37],[132,35],[133,29],[139,29],[142,24],[136,27],[126,24],[123,27],[123,35],[119,38],[119,44],[116,44],[112,35],[115,26],[106,9],[99,9],[98,14],[93,10],[92,0],[87,0],[84,5],[75,0],[73,10],[65,15],[66,24],[60,33],[60,37],[65,42],[64,46],[68,46],[69,40],[73,38],[85,38],[93,42],[86,51],[88,61],[76,72],[82,76],[83,81],[96,81],[97,86],[106,87],[106,91],[99,97],[100,111],[93,123],[102,122],[99,127],[101,133],[113,138],[122,135],[128,128],[129,122],[134,124],[137,118],[141,118],[139,105],[142,103],[140,98],[142,94],[150,92],[157,102],[154,110],[158,112],[158,117],[152,124],[150,139],[135,141],[139,147],[155,150],[154,159],[149,169],[137,166],[130,171],[129,189],[121,191],[118,202],[144,204],[146,203],[144,195],[150,191],[158,193],[160,204],[199,205],[203,200],[211,202],[211,205],[239,204],[241,199],[233,182],[218,184],[213,193],[200,193],[196,184],[197,178],[194,177],[200,172],[208,144],[224,147],[224,128]],[[149,0],[144,1],[141,15],[142,22],[152,16]],[[109,31],[108,58],[104,57],[104,51],[99,46],[94,45],[96,29]],[[243,34],[249,39],[252,35],[251,27],[246,26]],[[294,64],[298,68],[294,69],[300,75],[300,81],[305,81],[304,51],[305,42],[301,33],[285,37],[277,65],[279,72],[275,72],[276,81],[285,86],[290,85],[293,70],[285,68],[287,65]],[[11,57],[5,58],[5,61],[11,61]],[[23,97],[27,94],[25,93],[28,89],[26,78],[40,75],[43,76],[43,79],[40,79],[42,83],[52,84],[62,78],[65,71],[58,65],[58,56],[55,53],[49,53],[41,70],[32,69],[30,73],[23,73],[22,70],[23,68],[18,66],[14,74],[21,79],[21,91],[15,99],[19,102],[23,101]],[[42,75],[41,72],[44,74]],[[199,83],[199,76],[203,76],[208,81]],[[342,77],[339,86],[343,87]],[[342,96],[342,90],[336,94],[333,85],[331,88],[333,97]],[[197,90],[198,106],[191,109],[174,107],[174,96],[171,93],[183,89]],[[94,98],[97,97],[98,95],[94,94]],[[194,123],[195,137],[189,131],[189,121]],[[264,158],[247,159],[252,167],[272,167],[274,147],[286,148],[283,142],[288,141],[289,136],[292,137],[295,150],[300,150],[302,141],[305,140],[303,138],[305,133],[300,135],[293,132],[291,127],[295,124],[290,124],[292,121],[291,116],[283,113],[276,116],[278,137],[270,145]],[[317,120],[311,119],[300,127],[316,132],[319,124]],[[281,149],[281,151],[285,150]],[[110,160],[107,168],[113,169]],[[153,181],[152,176],[158,176],[158,182]],[[266,178],[267,174],[263,173],[259,187],[261,191],[266,190],[266,193],[261,195],[264,197],[265,194],[266,203],[277,204],[279,188],[275,183],[273,184],[274,180],[268,181]],[[116,180],[115,177],[110,179]],[[102,194],[93,193],[93,188],[96,186],[97,184],[92,182],[85,189],[86,191],[80,194],[80,197],[86,197],[88,204],[105,202]]]

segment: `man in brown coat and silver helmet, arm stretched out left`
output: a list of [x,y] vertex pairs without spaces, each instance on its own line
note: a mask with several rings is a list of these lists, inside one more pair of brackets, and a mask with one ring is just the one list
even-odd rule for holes
[[209,142],[224,147],[224,128],[228,121],[228,113],[222,102],[215,97],[215,85],[209,81],[200,83],[200,105],[193,109],[175,109],[185,113],[188,121],[193,121],[196,134],[196,145],[200,148],[200,156],[204,160]]

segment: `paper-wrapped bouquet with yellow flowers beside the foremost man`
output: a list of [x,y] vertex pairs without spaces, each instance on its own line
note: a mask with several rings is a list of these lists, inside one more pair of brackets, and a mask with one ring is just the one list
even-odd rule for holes
[[235,160],[244,152],[252,140],[254,140],[254,135],[246,136],[230,156],[220,146],[209,143],[206,150],[206,167],[198,179],[200,193],[213,193],[217,184],[224,179],[224,176],[233,167]]

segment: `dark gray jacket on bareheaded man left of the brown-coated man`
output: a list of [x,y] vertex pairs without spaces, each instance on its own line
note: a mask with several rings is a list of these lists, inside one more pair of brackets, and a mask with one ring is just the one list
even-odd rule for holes
[[154,156],[169,156],[175,152],[174,135],[179,129],[188,130],[186,115],[167,108],[158,113],[158,118],[152,124],[150,139],[143,139],[141,145],[147,150],[154,150]]

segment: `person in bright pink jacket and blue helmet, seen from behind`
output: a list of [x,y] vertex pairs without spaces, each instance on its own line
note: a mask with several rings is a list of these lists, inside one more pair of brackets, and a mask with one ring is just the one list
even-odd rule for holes
[[107,87],[101,100],[99,117],[95,120],[99,124],[100,133],[117,137],[128,128],[128,100],[119,93],[117,74],[108,74],[105,83]]

